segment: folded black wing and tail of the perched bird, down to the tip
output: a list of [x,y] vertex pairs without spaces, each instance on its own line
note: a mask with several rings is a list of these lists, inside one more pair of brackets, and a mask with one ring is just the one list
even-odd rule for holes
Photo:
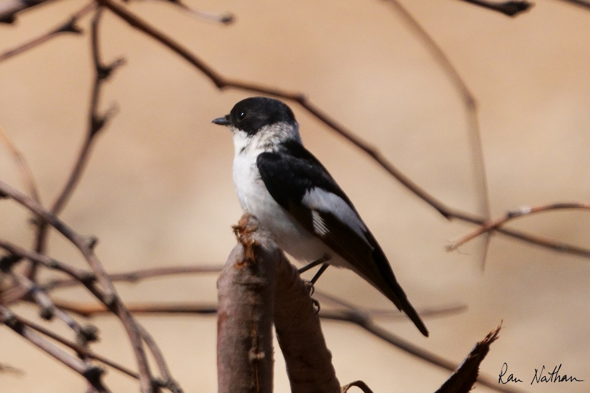
[[[257,158],[260,177],[274,200],[304,228],[354,266],[363,278],[403,310],[422,334],[428,336],[424,323],[395,279],[383,250],[348,196],[320,161],[300,143],[292,141],[284,147],[280,153],[265,152]],[[313,190],[335,194],[344,203],[337,201],[336,205],[326,209],[317,200],[303,200],[304,195]],[[354,218],[344,223],[339,215],[333,213],[335,209]]]

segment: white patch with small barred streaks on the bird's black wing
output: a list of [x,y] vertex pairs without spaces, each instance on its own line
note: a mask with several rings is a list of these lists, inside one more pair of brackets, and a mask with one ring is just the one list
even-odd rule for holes
[[306,191],[301,202],[312,210],[313,229],[317,233],[324,235],[329,232],[329,229],[326,227],[320,214],[313,212],[313,210],[332,213],[340,222],[355,231],[363,242],[369,245],[365,237],[365,232],[367,232],[365,224],[360,220],[358,214],[348,206],[348,203],[336,194],[314,187]]

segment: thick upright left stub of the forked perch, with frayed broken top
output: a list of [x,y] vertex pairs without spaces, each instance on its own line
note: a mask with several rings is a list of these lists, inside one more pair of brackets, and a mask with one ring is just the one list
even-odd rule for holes
[[219,393],[273,391],[273,306],[281,252],[250,216],[217,280]]

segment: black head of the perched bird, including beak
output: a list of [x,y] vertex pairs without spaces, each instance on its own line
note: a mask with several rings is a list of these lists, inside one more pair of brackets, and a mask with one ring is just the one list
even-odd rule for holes
[[295,115],[286,104],[273,98],[250,97],[235,104],[230,114],[216,118],[213,123],[234,126],[254,135],[261,127],[281,121],[295,123]]

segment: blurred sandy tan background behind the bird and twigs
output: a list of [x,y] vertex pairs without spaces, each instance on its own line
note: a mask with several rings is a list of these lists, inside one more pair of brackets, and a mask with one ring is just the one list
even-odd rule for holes
[[[481,214],[468,113],[461,94],[425,45],[383,1],[190,1],[201,11],[231,12],[234,24],[196,19],[165,2],[132,2],[133,12],[230,78],[300,91],[448,206]],[[0,25],[0,52],[65,21],[83,6],[61,0]],[[590,200],[590,11],[539,0],[509,18],[461,1],[404,2],[447,54],[478,104],[491,216],[551,202]],[[168,48],[104,12],[105,62],[124,57],[104,89],[101,108],[119,112],[100,134],[86,173],[61,217],[96,235],[109,272],[225,262],[241,216],[226,128],[245,91],[218,91]],[[63,35],[0,62],[0,125],[22,151],[41,192],[53,202],[84,140],[93,69],[84,35]],[[500,338],[482,364],[497,378],[504,362],[529,392],[590,389],[590,308],[587,258],[553,252],[501,235],[448,253],[445,246],[473,226],[444,219],[368,156],[290,103],[304,144],[355,202],[389,256],[418,311],[466,305],[466,311],[425,318],[422,337],[404,316],[379,323],[408,341],[460,362],[500,322]],[[24,190],[8,150],[0,147],[0,179]],[[0,203],[0,237],[30,247],[30,214]],[[551,239],[589,247],[590,214],[560,211],[510,224]],[[51,234],[52,257],[84,267],[71,245]],[[50,276],[43,275],[41,279]],[[124,301],[205,302],[217,299],[217,275],[117,284]],[[316,288],[360,306],[391,310],[353,273],[329,269]],[[54,299],[93,303],[81,289]],[[36,318],[37,308],[14,308]],[[217,389],[215,316],[140,316],[173,376],[186,392]],[[101,331],[99,354],[133,367],[119,321],[91,319]],[[69,334],[59,321],[48,324]],[[375,392],[432,392],[450,374],[405,354],[352,325],[324,322],[342,384],[362,379]],[[22,374],[0,374],[2,392],[83,391],[85,383],[5,327],[0,363]],[[585,382],[530,385],[535,368]],[[289,383],[277,353],[276,391]],[[113,391],[138,391],[136,381],[109,371]],[[490,389],[478,387],[477,391]]]

